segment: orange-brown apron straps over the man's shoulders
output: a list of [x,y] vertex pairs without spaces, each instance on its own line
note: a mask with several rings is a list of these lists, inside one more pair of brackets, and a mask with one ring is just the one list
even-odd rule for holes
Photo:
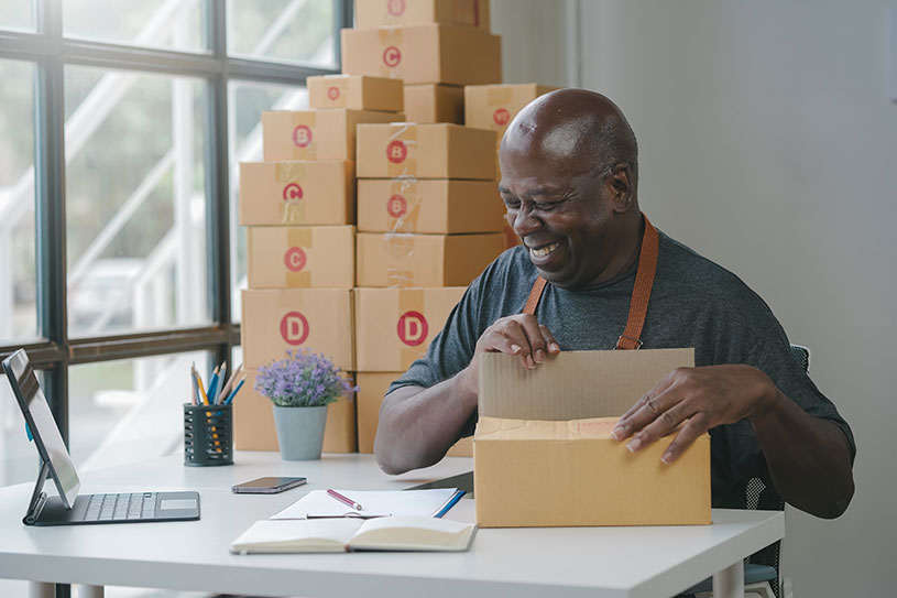
[[[645,316],[648,313],[650,290],[654,285],[654,275],[657,273],[657,255],[660,249],[657,229],[648,221],[647,216],[642,214],[642,218],[645,219],[645,233],[642,237],[638,270],[635,273],[635,285],[630,300],[630,316],[626,320],[626,328],[616,339],[614,349],[638,349],[642,347],[642,328],[645,326]],[[542,276],[536,276],[533,290],[529,291],[529,296],[526,297],[526,304],[523,306],[524,314],[536,313],[546,282]]]

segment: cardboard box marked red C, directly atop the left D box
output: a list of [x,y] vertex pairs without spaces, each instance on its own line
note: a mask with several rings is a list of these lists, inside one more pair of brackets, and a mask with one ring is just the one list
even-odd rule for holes
[[351,289],[355,228],[249,227],[250,289]]

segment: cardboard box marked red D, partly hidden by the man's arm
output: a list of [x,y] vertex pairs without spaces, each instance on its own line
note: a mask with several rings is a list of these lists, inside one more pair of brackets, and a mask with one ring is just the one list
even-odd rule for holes
[[357,289],[355,363],[360,371],[404,371],[427,347],[464,294],[441,289]]

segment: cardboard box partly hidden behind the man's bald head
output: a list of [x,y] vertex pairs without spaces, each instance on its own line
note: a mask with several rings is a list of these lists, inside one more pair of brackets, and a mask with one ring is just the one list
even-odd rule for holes
[[468,127],[497,132],[496,146],[505,129],[524,106],[557,87],[525,84],[469,85],[464,87],[464,122]]

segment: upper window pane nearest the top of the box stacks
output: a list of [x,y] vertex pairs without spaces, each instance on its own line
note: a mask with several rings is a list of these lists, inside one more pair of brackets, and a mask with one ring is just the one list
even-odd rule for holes
[[228,0],[228,53],[335,67],[333,0]]

